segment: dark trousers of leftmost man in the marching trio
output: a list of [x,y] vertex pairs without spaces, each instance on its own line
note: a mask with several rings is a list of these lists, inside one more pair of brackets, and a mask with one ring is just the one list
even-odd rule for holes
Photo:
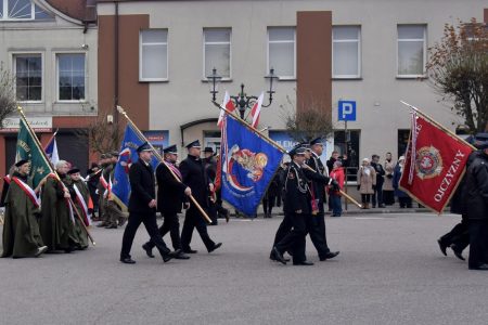
[[138,231],[141,222],[144,223],[145,230],[151,237],[151,242],[155,244],[160,256],[169,253],[169,248],[166,246],[163,237],[157,231],[156,213],[129,213],[129,221],[127,222],[126,230],[124,231],[123,247],[120,251],[120,259],[130,258],[130,249],[132,248],[133,237]]

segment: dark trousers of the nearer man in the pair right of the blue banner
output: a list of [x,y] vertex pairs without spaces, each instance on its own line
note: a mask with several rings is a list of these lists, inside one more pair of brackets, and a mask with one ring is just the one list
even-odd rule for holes
[[274,246],[281,253],[287,250],[292,251],[294,263],[303,262],[306,260],[305,237],[308,230],[312,227],[310,224],[312,217],[310,214],[290,213],[288,218],[293,223],[293,229]]

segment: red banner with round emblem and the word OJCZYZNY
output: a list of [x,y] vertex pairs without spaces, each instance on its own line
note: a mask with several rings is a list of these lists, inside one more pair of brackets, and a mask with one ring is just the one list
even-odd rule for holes
[[460,139],[413,114],[400,187],[441,213],[464,174],[472,151]]

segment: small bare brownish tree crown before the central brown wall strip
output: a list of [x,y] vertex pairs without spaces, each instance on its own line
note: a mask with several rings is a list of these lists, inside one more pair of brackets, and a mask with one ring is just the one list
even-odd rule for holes
[[322,136],[328,138],[334,131],[331,105],[317,100],[307,101],[307,106],[296,109],[296,105],[286,96],[287,104],[281,105],[286,131],[298,142],[309,142]]

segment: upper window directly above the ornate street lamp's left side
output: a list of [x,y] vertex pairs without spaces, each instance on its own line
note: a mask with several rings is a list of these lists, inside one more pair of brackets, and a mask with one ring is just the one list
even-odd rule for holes
[[231,78],[231,29],[204,28],[204,76],[211,75],[216,68],[223,79]]

